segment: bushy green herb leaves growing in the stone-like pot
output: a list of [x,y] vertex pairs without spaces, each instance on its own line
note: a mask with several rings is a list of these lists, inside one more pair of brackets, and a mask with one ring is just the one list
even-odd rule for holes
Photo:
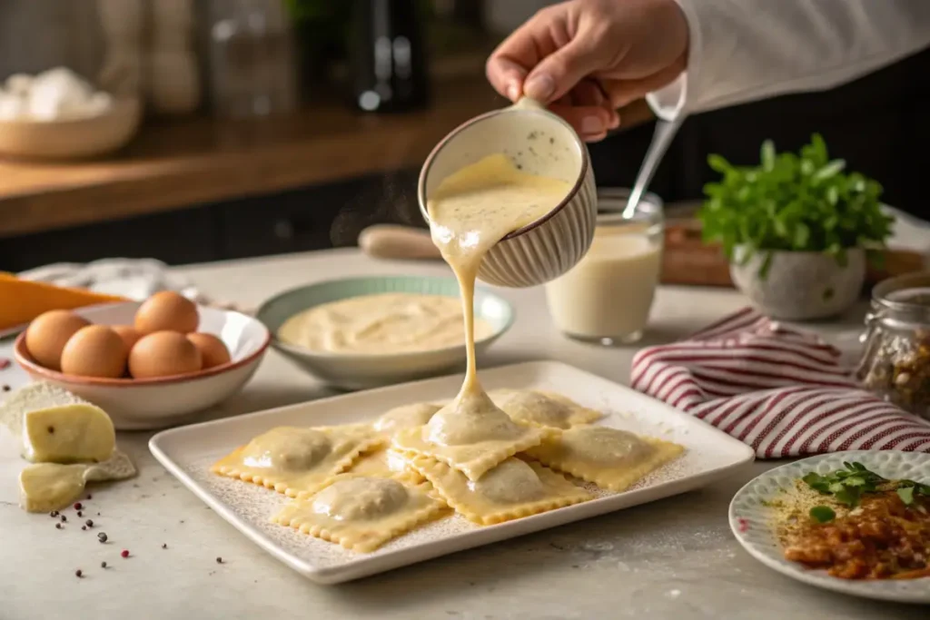
[[881,209],[882,186],[845,173],[845,162],[830,160],[819,135],[797,154],[777,153],[766,140],[760,160],[737,166],[708,157],[723,178],[704,186],[698,218],[704,240],[723,244],[731,260],[745,264],[763,252],[761,277],[776,250],[824,252],[844,265],[846,250],[875,249],[891,235],[894,218]]

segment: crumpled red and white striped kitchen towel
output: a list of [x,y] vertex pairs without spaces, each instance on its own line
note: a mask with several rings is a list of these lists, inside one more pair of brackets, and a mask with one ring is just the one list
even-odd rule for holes
[[640,350],[632,387],[697,416],[759,458],[930,452],[930,424],[859,389],[840,351],[749,308]]

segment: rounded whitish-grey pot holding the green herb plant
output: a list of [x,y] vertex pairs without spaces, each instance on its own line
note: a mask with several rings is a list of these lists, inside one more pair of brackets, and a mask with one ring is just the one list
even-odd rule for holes
[[820,252],[777,251],[764,277],[759,271],[765,253],[740,264],[742,252],[737,248],[730,264],[733,283],[753,306],[773,319],[805,321],[840,314],[855,303],[865,282],[862,248],[847,250],[845,265]]

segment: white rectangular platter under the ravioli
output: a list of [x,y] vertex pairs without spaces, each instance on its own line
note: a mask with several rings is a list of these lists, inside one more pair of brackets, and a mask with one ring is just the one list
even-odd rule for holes
[[158,433],[152,454],[219,516],[275,558],[321,584],[337,584],[388,571],[470,547],[538,532],[571,521],[677,495],[718,480],[753,459],[737,442],[663,402],[572,366],[555,362],[520,363],[483,370],[485,389],[549,389],[606,414],[598,424],[678,442],[685,453],[620,494],[599,492],[582,504],[517,521],[480,526],[459,515],[435,521],[395,538],[374,553],[349,551],[269,521],[286,500],[243,481],[223,478],[210,466],[254,436],[278,426],[325,426],[373,420],[410,402],[444,401],[461,386],[462,376],[444,376],[371,389],[256,414],[195,424]]

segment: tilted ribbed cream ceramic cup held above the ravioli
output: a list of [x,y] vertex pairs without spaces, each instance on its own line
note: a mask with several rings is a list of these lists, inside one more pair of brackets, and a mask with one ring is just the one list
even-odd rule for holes
[[597,191],[591,157],[571,125],[529,99],[487,112],[445,137],[419,174],[419,209],[444,178],[487,155],[504,153],[525,172],[559,178],[572,189],[542,218],[512,231],[491,248],[478,277],[487,284],[544,284],[570,270],[591,247]]

